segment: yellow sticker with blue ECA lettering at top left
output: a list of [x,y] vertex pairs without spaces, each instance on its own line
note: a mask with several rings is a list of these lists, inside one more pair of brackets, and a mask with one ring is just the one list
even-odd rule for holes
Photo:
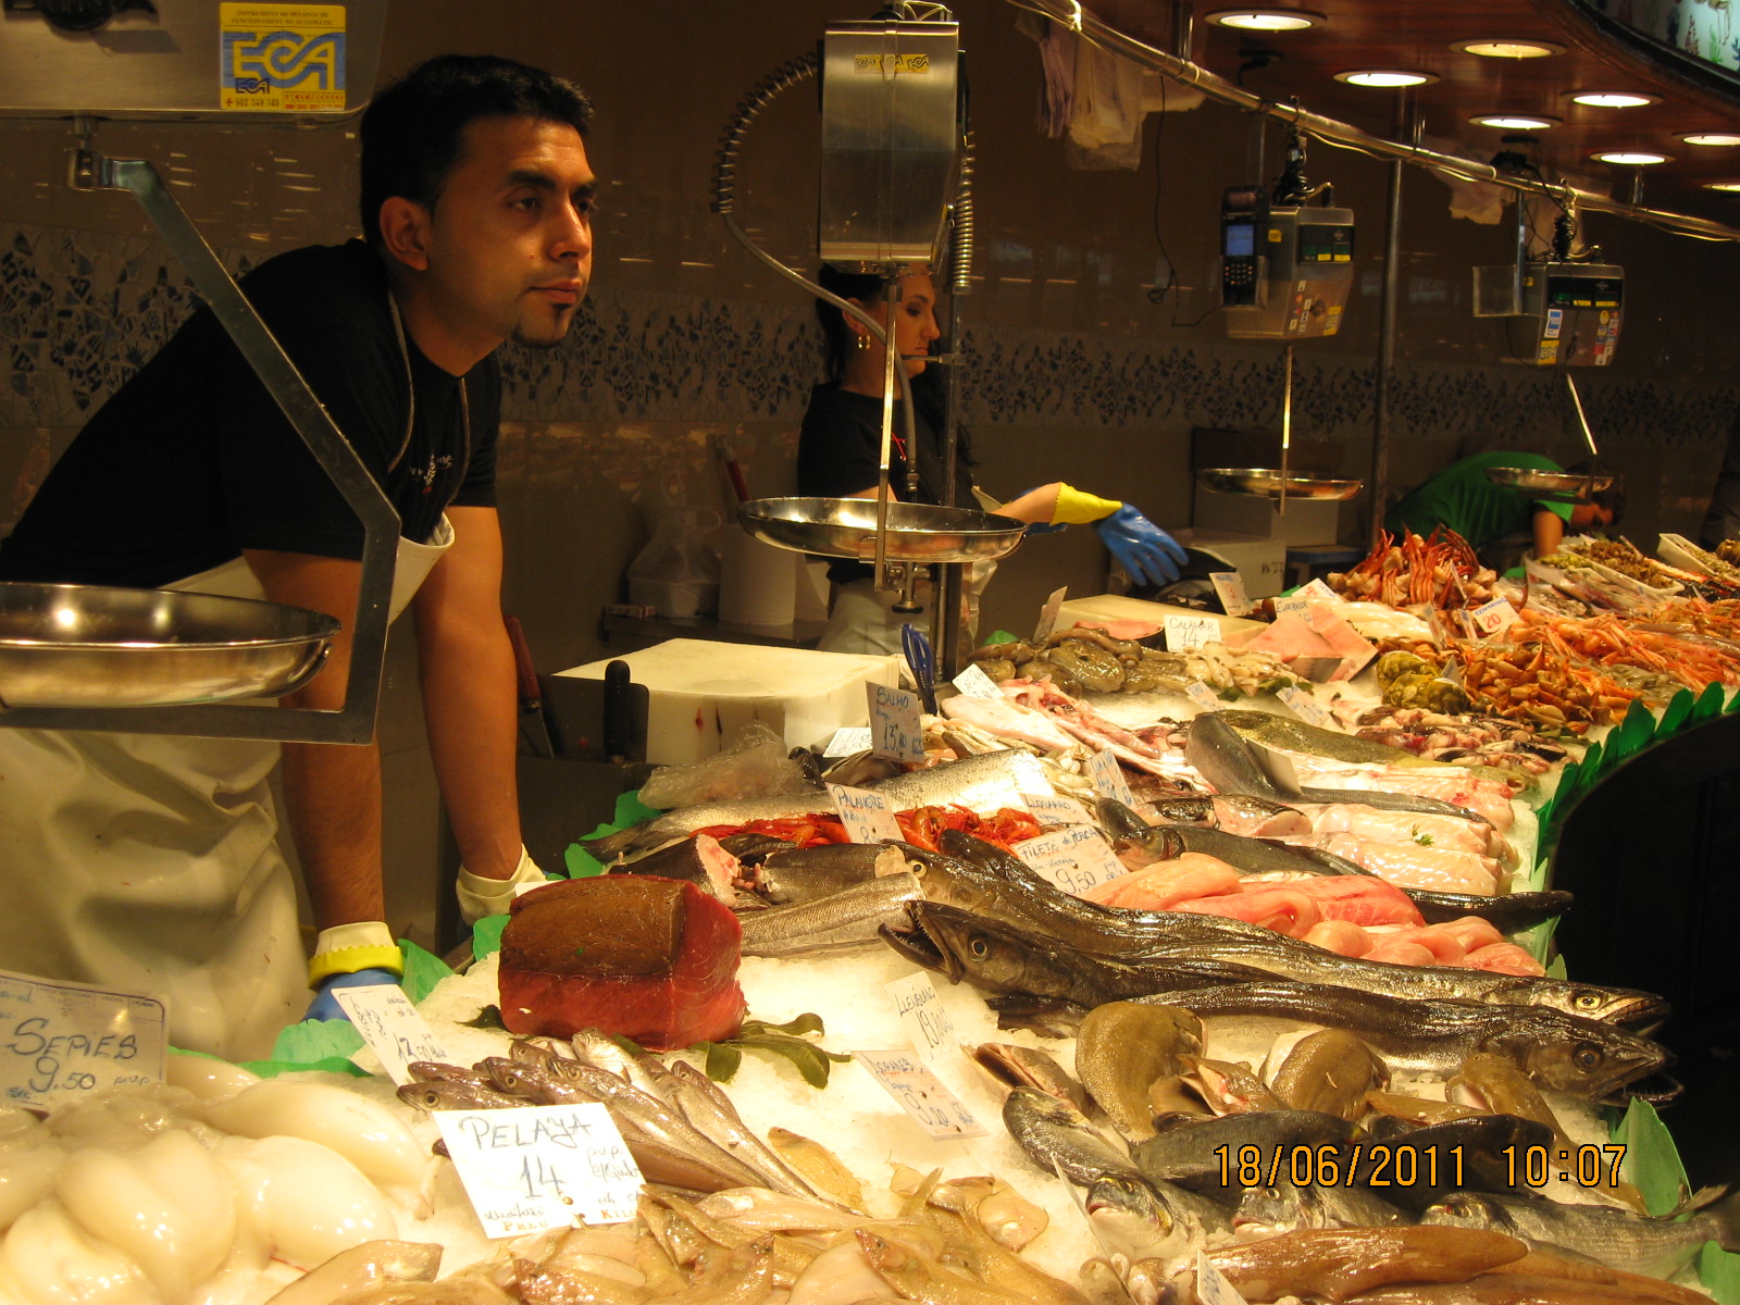
[[345,5],[218,5],[218,104],[345,108]]

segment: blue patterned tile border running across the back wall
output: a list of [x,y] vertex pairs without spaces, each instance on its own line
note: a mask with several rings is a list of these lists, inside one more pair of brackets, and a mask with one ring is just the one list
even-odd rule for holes
[[[231,270],[249,256],[224,252]],[[157,240],[0,223],[0,428],[78,426],[193,310]],[[1030,327],[969,325],[964,412],[974,425],[1157,428],[1277,425],[1279,350]],[[734,423],[802,418],[821,374],[807,306],[597,291],[553,350],[503,350],[503,414],[525,423]],[[1589,374],[1608,442],[1690,447],[1726,432],[1740,392]],[[1295,421],[1321,437],[1369,428],[1369,364],[1302,355]],[[1402,364],[1399,437],[1488,445],[1563,442],[1552,374]]]

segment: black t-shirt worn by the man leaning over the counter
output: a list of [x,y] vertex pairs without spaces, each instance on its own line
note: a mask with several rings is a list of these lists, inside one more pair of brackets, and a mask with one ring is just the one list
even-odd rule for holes
[[[298,249],[242,289],[405,538],[428,539],[451,505],[494,506],[496,360],[458,378],[400,346],[372,249]],[[202,308],[85,423],[0,541],[0,579],[167,585],[244,548],[358,559],[362,527]]]

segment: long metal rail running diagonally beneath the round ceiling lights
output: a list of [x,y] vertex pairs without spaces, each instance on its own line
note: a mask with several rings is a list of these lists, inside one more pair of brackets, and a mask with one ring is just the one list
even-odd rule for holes
[[1159,50],[1119,31],[1072,0],[1009,0],[1009,3],[1016,9],[1027,9],[1061,23],[1063,26],[1081,33],[1086,40],[1091,40],[1094,45],[1122,54],[1126,59],[1131,59],[1143,68],[1150,68],[1164,77],[1171,77],[1185,85],[1195,87],[1209,99],[1232,104],[1246,113],[1262,113],[1275,118],[1277,122],[1296,124],[1302,132],[1328,144],[1364,150],[1366,153],[1380,158],[1430,167],[1465,177],[1467,181],[1484,181],[1495,186],[1522,191],[1526,195],[1543,195],[1557,202],[1575,202],[1582,209],[1611,212],[1618,218],[1648,223],[1650,226],[1658,226],[1676,235],[1695,237],[1698,240],[1740,240],[1740,228],[1728,226],[1724,223],[1714,223],[1705,218],[1693,218],[1683,212],[1670,212],[1667,209],[1648,209],[1641,204],[1627,204],[1625,200],[1616,200],[1610,195],[1589,190],[1578,190],[1571,184],[1552,184],[1547,181],[1535,181],[1531,177],[1512,176],[1509,172],[1500,172],[1491,164],[1479,164],[1470,158],[1439,153],[1437,150],[1427,150],[1422,144],[1390,141],[1361,130],[1352,124],[1326,118],[1319,113],[1307,113],[1295,104],[1281,104],[1272,99],[1263,99],[1262,96],[1255,96],[1249,90],[1234,85],[1223,77],[1216,77],[1201,64],[1180,59],[1176,54],[1168,54],[1166,50]]

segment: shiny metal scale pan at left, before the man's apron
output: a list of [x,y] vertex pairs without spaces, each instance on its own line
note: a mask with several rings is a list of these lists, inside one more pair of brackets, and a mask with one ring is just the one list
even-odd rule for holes
[[0,585],[0,703],[176,706],[277,698],[320,670],[339,623],[211,593]]

